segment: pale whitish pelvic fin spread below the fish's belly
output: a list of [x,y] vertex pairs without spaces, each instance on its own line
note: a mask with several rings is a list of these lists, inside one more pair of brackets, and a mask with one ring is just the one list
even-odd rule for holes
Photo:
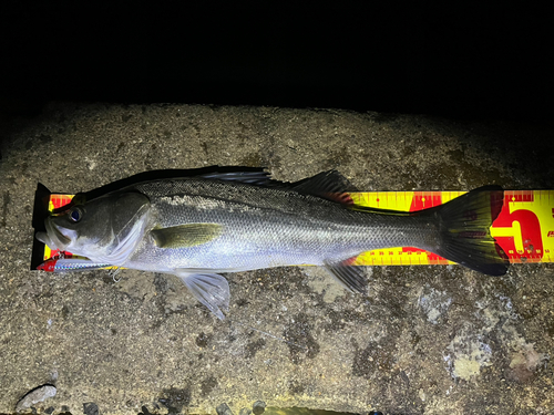
[[219,320],[225,319],[223,311],[229,309],[229,283],[218,273],[191,273],[189,270],[175,270],[191,293],[208,308]]

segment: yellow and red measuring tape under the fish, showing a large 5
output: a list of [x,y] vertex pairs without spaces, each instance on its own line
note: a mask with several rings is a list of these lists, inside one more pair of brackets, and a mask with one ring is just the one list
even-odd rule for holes
[[[417,211],[445,204],[465,191],[360,191],[351,193],[356,205],[379,209]],[[50,195],[49,210],[68,205],[73,195]],[[554,261],[554,190],[504,190],[504,206],[491,226],[491,235],[510,262]],[[44,247],[43,259],[60,252]],[[70,255],[70,252],[65,252]],[[410,247],[363,252],[358,266],[428,266],[451,262],[435,253]]]

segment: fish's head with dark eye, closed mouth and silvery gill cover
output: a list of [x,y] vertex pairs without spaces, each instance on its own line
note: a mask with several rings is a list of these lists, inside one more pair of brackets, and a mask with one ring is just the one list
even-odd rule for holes
[[150,211],[150,199],[141,193],[109,194],[48,217],[47,231],[37,238],[52,249],[117,264],[144,236]]

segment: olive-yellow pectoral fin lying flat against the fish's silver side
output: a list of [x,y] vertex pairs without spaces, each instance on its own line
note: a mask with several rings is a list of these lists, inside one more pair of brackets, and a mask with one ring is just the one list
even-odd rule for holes
[[218,224],[185,224],[151,232],[158,248],[191,248],[216,239],[222,228]]

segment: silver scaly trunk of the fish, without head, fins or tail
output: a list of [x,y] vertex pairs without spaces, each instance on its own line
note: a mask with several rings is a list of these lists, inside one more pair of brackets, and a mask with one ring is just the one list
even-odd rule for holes
[[157,226],[218,224],[220,236],[207,243],[166,249],[145,235],[125,267],[233,272],[322,266],[370,249],[435,243],[435,226],[429,218],[368,215],[291,189],[191,179],[172,183],[174,194],[167,196],[156,191],[157,186],[136,187],[148,196]]

